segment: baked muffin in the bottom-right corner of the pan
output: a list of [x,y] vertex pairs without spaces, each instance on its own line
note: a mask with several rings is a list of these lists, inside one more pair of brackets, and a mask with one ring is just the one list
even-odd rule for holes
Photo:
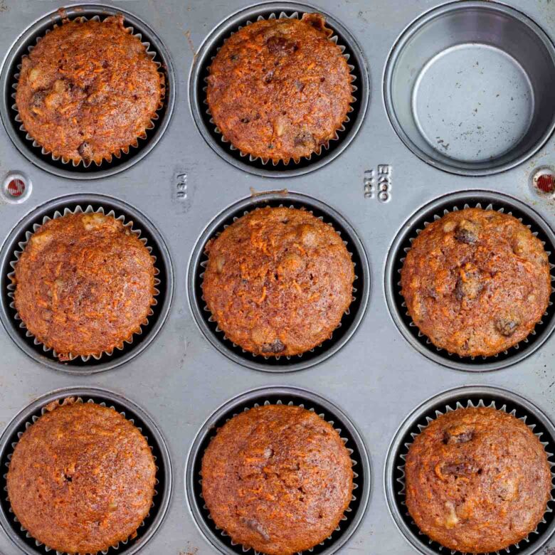
[[430,539],[463,553],[517,544],[543,518],[551,471],[538,438],[495,408],[445,413],[406,458],[406,505]]

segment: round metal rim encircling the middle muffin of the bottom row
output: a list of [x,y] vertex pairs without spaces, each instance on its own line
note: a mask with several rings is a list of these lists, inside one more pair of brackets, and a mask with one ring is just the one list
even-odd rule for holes
[[[349,417],[343,409],[337,405],[334,401],[329,400],[329,398],[316,393],[312,389],[300,387],[300,386],[288,386],[288,385],[273,385],[273,386],[259,386],[255,388],[248,389],[242,393],[238,393],[227,401],[221,403],[217,408],[215,408],[209,416],[203,421],[201,427],[194,435],[194,440],[191,442],[191,447],[186,455],[185,467],[184,467],[184,488],[187,508],[189,509],[189,514],[193,517],[196,529],[201,532],[203,538],[216,548],[221,553],[232,554],[233,551],[227,546],[223,545],[218,536],[213,532],[213,530],[207,526],[203,519],[201,508],[199,507],[199,499],[197,499],[194,494],[195,486],[194,482],[198,477],[194,474],[194,467],[196,460],[203,456],[200,453],[203,441],[206,436],[211,432],[216,433],[214,428],[216,422],[219,418],[226,416],[227,413],[233,415],[233,411],[236,411],[238,407],[243,407],[247,403],[253,404],[258,402],[257,399],[262,399],[264,396],[298,396],[301,399],[301,403],[305,405],[314,402],[323,406],[326,411],[329,412],[329,416],[335,418],[335,425],[337,425],[337,417],[340,418],[340,424],[342,427],[346,427],[351,434],[357,450],[359,451],[360,462],[362,465],[359,474],[364,476],[364,485],[361,490],[356,490],[360,495],[360,504],[351,522],[349,522],[348,527],[345,529],[344,533],[339,539],[333,539],[333,532],[331,534],[332,543],[322,552],[321,555],[332,555],[337,553],[339,549],[342,548],[347,542],[354,536],[356,530],[359,529],[364,516],[366,514],[366,509],[369,504],[369,499],[371,492],[374,489],[374,476],[372,474],[372,465],[366,442],[364,440],[364,435],[359,431],[354,421]],[[297,406],[297,405],[295,405]],[[327,541],[327,540],[324,540]],[[336,542],[338,542],[336,544]],[[252,549],[252,548],[251,548]],[[254,553],[254,550],[253,550]],[[303,553],[310,553],[310,551],[303,551]],[[262,554],[261,554],[262,555]]]

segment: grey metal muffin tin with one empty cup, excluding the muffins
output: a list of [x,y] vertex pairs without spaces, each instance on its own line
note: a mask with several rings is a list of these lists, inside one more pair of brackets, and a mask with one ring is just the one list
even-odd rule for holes
[[[0,197],[2,462],[14,434],[48,399],[78,394],[105,400],[152,431],[147,435],[165,465],[152,523],[117,552],[242,552],[212,529],[203,512],[196,474],[203,447],[213,425],[249,403],[302,402],[336,425],[342,422],[344,437],[355,445],[359,474],[356,507],[337,536],[313,552],[438,553],[438,546],[418,535],[396,497],[403,438],[440,404],[483,398],[526,413],[553,443],[555,318],[549,307],[528,343],[495,359],[449,356],[430,348],[410,326],[398,296],[397,270],[406,242],[425,221],[465,203],[512,211],[555,253],[555,196],[536,189],[532,179],[536,169],[555,168],[554,3],[403,0],[392,7],[385,0],[319,0],[312,6],[228,0],[217,10],[200,0],[72,5],[66,9],[71,16],[124,13],[157,52],[169,83],[165,112],[141,148],[110,166],[88,169],[43,157],[18,132],[11,110],[18,58],[58,21],[58,8],[56,0],[0,1],[0,51],[6,53],[0,176],[3,182],[21,176],[29,185],[21,202]],[[339,140],[310,162],[287,167],[250,162],[228,150],[209,125],[202,102],[206,67],[238,26],[258,16],[303,11],[327,14],[338,43],[350,54],[358,88],[351,121]],[[457,87],[461,75],[467,89]],[[502,97],[517,85],[520,97]],[[480,106],[467,103],[468,97]],[[513,107],[518,111],[511,112]],[[515,127],[505,129],[502,118],[511,113],[518,113]],[[445,114],[471,132],[458,137]],[[423,122],[427,115],[431,120]],[[266,361],[215,332],[199,285],[206,240],[233,217],[280,203],[305,206],[341,231],[358,279],[356,301],[332,340],[300,358]],[[113,209],[144,233],[157,256],[161,293],[149,326],[124,351],[60,364],[14,321],[6,292],[9,262],[33,223],[88,204]],[[0,509],[6,532],[0,532],[0,552],[44,553],[13,526],[4,498]],[[555,553],[553,529],[548,513],[539,534],[519,551]]]

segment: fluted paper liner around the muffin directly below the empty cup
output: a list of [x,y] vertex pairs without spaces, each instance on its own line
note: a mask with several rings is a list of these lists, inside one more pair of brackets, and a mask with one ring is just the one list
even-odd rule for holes
[[[443,209],[443,213],[442,213],[441,215],[439,215],[439,214],[434,214],[434,215],[433,215],[433,221],[438,221],[438,220],[440,220],[441,218],[443,218],[443,216],[445,216],[445,215],[448,214],[448,213],[451,213],[451,212],[458,212],[458,211],[460,211],[461,209],[466,209],[466,208],[482,208],[482,203],[481,203],[481,202],[477,202],[477,203],[472,203],[472,205],[470,205],[469,203],[465,203],[464,206],[463,206],[462,208],[459,208],[458,206],[453,206],[453,207],[451,208],[451,210],[448,210],[447,208],[444,208],[444,209]],[[484,209],[485,209],[485,210],[495,210],[495,211],[497,211],[497,212],[499,212],[499,213],[506,213],[507,215],[512,216],[512,211],[511,211],[510,209],[509,209],[509,210],[506,210],[505,207],[495,209],[495,208],[493,208],[493,203],[487,203],[487,206],[486,206]],[[520,223],[522,223],[524,226],[526,226],[530,231],[532,231],[532,230],[534,229],[534,222],[532,222],[532,223],[524,223],[523,218],[521,218],[521,217],[519,217],[519,216],[513,216],[513,217],[516,217],[517,220],[518,220]],[[425,228],[427,228],[427,227],[430,225],[430,223],[432,223],[432,222],[430,222],[430,221],[425,221],[425,222],[423,223],[423,226],[422,226],[422,227],[419,227],[419,228],[417,228],[417,229],[415,230],[416,235],[415,235],[415,236],[412,236],[412,237],[410,237],[410,238],[408,239],[408,240],[411,242],[411,245],[412,245],[413,241],[416,239],[416,237],[418,237],[418,235],[420,235],[420,233],[421,233]],[[538,236],[538,233],[539,233],[538,231],[532,231],[532,235],[533,235],[534,237],[537,237],[537,236]],[[545,243],[544,240],[541,240],[541,244],[542,244],[542,245],[544,246],[544,248],[545,248],[546,243]],[[479,355],[479,356],[462,356],[462,355],[460,355],[460,354],[458,354],[458,353],[452,353],[452,352],[448,351],[447,349],[443,349],[443,347],[437,347],[435,344],[433,344],[432,340],[431,340],[427,335],[423,334],[423,333],[420,331],[420,329],[418,328],[418,326],[413,322],[413,319],[412,319],[412,317],[411,317],[411,314],[408,313],[408,309],[407,309],[407,306],[406,306],[406,301],[404,300],[403,295],[401,295],[401,270],[402,270],[403,264],[404,264],[404,262],[405,262],[405,260],[406,260],[406,254],[408,253],[409,250],[411,250],[411,247],[406,247],[406,248],[403,249],[403,252],[405,253],[405,256],[399,258],[399,259],[398,259],[398,263],[397,263],[397,265],[396,265],[396,267],[397,267],[396,272],[397,272],[398,275],[399,275],[399,279],[398,279],[398,281],[396,282],[397,292],[398,292],[399,296],[401,297],[401,299],[403,299],[403,302],[401,302],[401,307],[402,307],[403,310],[405,311],[405,315],[406,315],[408,318],[411,319],[411,322],[410,322],[408,325],[409,325],[410,327],[413,327],[413,328],[418,329],[418,337],[425,337],[426,346],[428,346],[429,348],[434,348],[437,352],[443,352],[443,353],[447,354],[448,356],[455,356],[455,357],[458,357],[458,359],[461,359],[461,360],[463,360],[463,361],[467,361],[467,360],[474,361],[475,359],[482,359],[482,360],[497,359],[497,358],[499,357],[500,354],[508,355],[509,352],[512,351],[512,350],[518,351],[518,350],[520,349],[520,347],[521,347],[521,344],[524,344],[524,345],[522,345],[522,347],[524,348],[524,347],[526,346],[526,344],[529,343],[529,337],[530,337],[531,335],[536,335],[536,333],[537,333],[537,332],[536,332],[536,327],[537,327],[538,325],[544,324],[543,318],[549,316],[549,311],[551,310],[551,307],[553,306],[553,300],[551,300],[551,299],[552,299],[553,294],[554,294],[554,292],[555,292],[555,287],[553,287],[553,282],[555,281],[555,275],[554,275],[554,273],[553,273],[551,270],[553,270],[553,268],[555,268],[555,265],[551,262],[551,260],[552,260],[552,253],[551,253],[551,250],[545,250],[545,253],[546,253],[547,258],[548,258],[548,261],[549,261],[549,270],[550,270],[550,276],[551,276],[551,295],[549,295],[549,303],[548,303],[547,308],[546,308],[546,310],[545,310],[545,312],[544,312],[544,314],[543,314],[543,316],[542,316],[542,319],[540,319],[539,322],[536,322],[536,326],[535,326],[534,329],[532,329],[532,331],[527,335],[527,337],[525,337],[524,339],[522,339],[522,341],[519,341],[517,344],[512,345],[512,346],[509,347],[508,349],[504,349],[504,351],[499,351],[498,353],[492,354],[492,355],[490,355],[490,356],[485,356],[485,355],[481,355],[481,356],[480,356],[480,355]]]

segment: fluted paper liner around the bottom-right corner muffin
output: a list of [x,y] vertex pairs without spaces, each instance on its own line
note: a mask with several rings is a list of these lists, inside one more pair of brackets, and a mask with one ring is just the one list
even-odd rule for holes
[[[462,401],[462,402],[461,402]],[[466,405],[463,405],[462,403],[464,403],[466,401]],[[453,408],[451,405],[455,405],[455,408]],[[403,497],[403,501],[401,501],[401,505],[403,507],[403,510],[405,510],[405,515],[406,517],[408,517],[408,519],[410,519],[411,524],[413,525],[413,527],[416,527],[416,529],[418,529],[418,524],[416,524],[416,522],[414,522],[414,520],[411,517],[411,514],[408,512],[408,507],[406,507],[406,501],[405,501],[405,497],[406,497],[406,482],[405,482],[405,462],[406,462],[406,457],[408,455],[408,451],[411,448],[411,445],[413,444],[414,440],[416,439],[416,437],[418,437],[419,433],[421,433],[423,430],[425,430],[426,428],[428,428],[428,425],[430,425],[430,423],[432,423],[435,419],[437,419],[439,416],[443,416],[445,413],[449,413],[449,412],[453,412],[453,411],[457,411],[460,408],[477,408],[477,407],[487,407],[487,408],[495,408],[498,411],[503,411],[504,413],[510,414],[511,416],[514,416],[515,418],[518,418],[520,421],[524,422],[524,424],[526,424],[528,426],[528,428],[530,430],[532,430],[532,433],[534,433],[534,435],[536,436],[536,438],[538,438],[539,442],[541,443],[541,445],[543,445],[544,447],[544,452],[546,454],[547,457],[547,462],[549,464],[549,468],[551,469],[551,494],[549,497],[549,501],[546,504],[546,510],[544,513],[544,517],[541,518],[541,520],[538,522],[538,524],[536,524],[536,528],[534,530],[532,530],[532,532],[529,532],[529,534],[521,539],[517,544],[511,544],[510,546],[504,547],[502,549],[499,549],[499,551],[490,551],[488,554],[482,554],[482,555],[491,555],[491,554],[496,554],[496,555],[501,555],[501,552],[504,551],[506,553],[511,553],[512,549],[521,549],[522,548],[522,544],[524,542],[524,544],[528,544],[531,539],[530,536],[534,536],[539,534],[539,530],[538,527],[540,524],[546,524],[546,519],[545,519],[545,515],[548,513],[553,512],[553,507],[550,507],[549,504],[555,502],[555,498],[554,498],[554,490],[555,490],[555,472],[554,472],[554,467],[555,467],[555,461],[552,460],[554,457],[554,453],[550,453],[547,448],[549,446],[549,449],[553,450],[554,449],[554,445],[550,445],[549,441],[542,441],[541,440],[541,436],[544,435],[543,432],[534,432],[534,428],[536,428],[536,424],[528,424],[527,423],[527,418],[529,416],[533,416],[532,413],[527,413],[527,411],[525,411],[523,408],[513,408],[512,411],[508,411],[507,409],[507,403],[502,402],[502,405],[498,408],[497,404],[495,400],[492,400],[491,403],[489,403],[488,405],[486,405],[484,403],[484,401],[482,400],[482,398],[480,398],[477,403],[473,403],[472,399],[470,398],[462,398],[458,401],[451,401],[450,403],[448,403],[447,405],[444,406],[443,408],[443,412],[439,411],[437,409],[435,409],[435,418],[430,418],[429,414],[431,413],[431,411],[428,411],[428,413],[426,413],[425,415],[425,420],[426,423],[425,424],[418,424],[418,433],[411,433],[411,441],[408,441],[406,443],[403,443],[403,453],[401,453],[400,455],[398,455],[398,458],[401,458],[401,460],[403,460],[403,464],[402,465],[396,465],[395,468],[396,470],[398,470],[398,472],[400,472],[400,476],[396,478],[396,482],[397,484],[400,486],[400,488],[398,489],[398,491],[396,491],[396,495]],[[520,415],[520,416],[519,416]],[[467,553],[463,552],[463,551],[458,551],[456,549],[449,549],[448,547],[442,546],[441,544],[438,543],[438,541],[434,541],[433,539],[428,538],[428,536],[426,534],[424,534],[423,532],[421,532],[420,529],[418,529],[418,535],[419,536],[424,536],[426,539],[428,539],[428,545],[432,546],[433,544],[438,546],[438,550],[439,551],[443,551],[445,549],[445,552],[450,553],[450,555],[467,555]]]

